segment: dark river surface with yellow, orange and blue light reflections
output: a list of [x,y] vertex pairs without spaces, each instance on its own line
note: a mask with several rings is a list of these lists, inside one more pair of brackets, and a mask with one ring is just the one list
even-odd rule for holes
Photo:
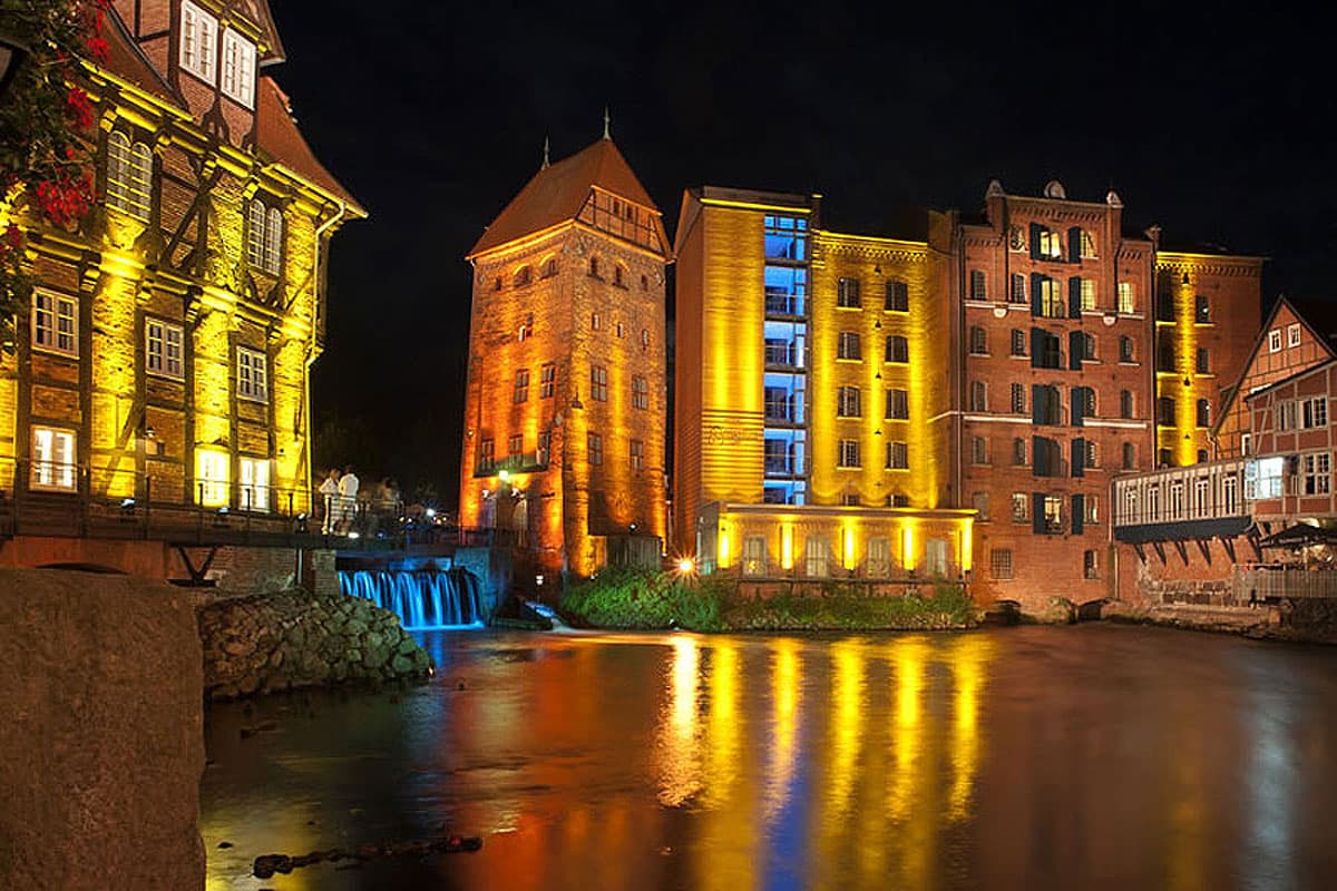
[[[425,641],[437,677],[398,701],[211,709],[210,891],[1337,888],[1337,649],[1108,625]],[[249,876],[443,826],[483,850]]]

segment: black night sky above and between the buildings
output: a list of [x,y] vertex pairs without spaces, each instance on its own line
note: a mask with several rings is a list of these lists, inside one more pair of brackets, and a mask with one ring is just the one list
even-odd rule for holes
[[372,212],[332,250],[314,399],[341,427],[318,456],[455,502],[464,254],[544,135],[555,159],[583,148],[604,104],[670,232],[701,183],[820,191],[829,227],[876,234],[905,206],[977,211],[995,176],[1056,176],[1075,199],[1114,186],[1167,240],[1273,258],[1265,305],[1330,298],[1337,100],[1312,19],[869,5],[273,0],[289,61],[269,72]]

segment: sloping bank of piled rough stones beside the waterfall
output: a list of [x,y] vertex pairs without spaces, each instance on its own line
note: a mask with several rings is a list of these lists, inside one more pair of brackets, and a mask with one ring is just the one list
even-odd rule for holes
[[210,699],[416,680],[432,671],[398,616],[342,594],[297,590],[210,604],[199,610],[199,639]]

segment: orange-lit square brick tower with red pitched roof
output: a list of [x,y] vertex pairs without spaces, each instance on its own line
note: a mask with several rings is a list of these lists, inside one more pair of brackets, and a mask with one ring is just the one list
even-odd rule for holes
[[667,259],[659,210],[607,130],[544,158],[473,246],[461,528],[507,530],[580,576],[658,565]]

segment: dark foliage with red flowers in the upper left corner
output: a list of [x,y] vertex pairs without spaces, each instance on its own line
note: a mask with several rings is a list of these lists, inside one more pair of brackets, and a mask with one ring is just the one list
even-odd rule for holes
[[94,100],[83,59],[106,61],[111,0],[0,0],[5,33],[29,55],[0,98],[0,318],[27,306],[28,231],[68,230],[92,210]]

